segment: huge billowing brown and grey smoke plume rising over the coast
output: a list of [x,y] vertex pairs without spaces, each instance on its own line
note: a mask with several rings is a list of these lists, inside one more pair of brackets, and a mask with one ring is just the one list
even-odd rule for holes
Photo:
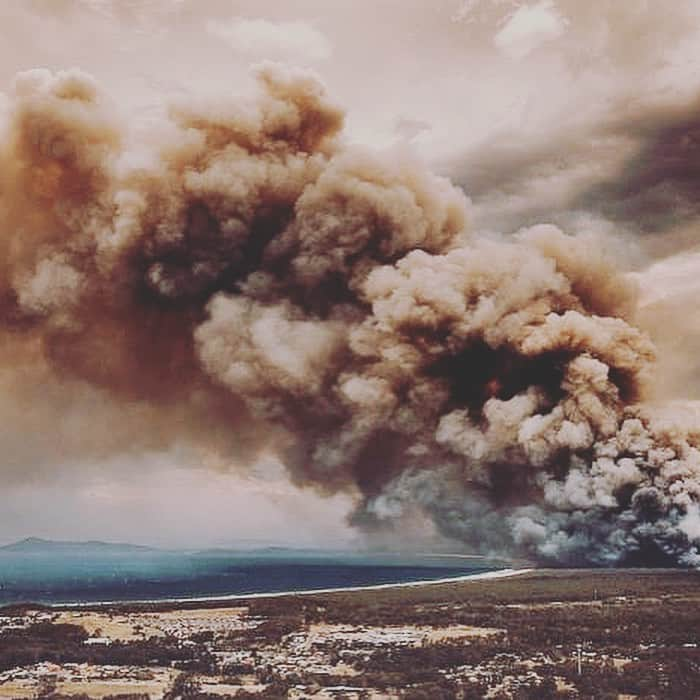
[[5,393],[56,423],[109,396],[78,451],[273,450],[367,528],[418,507],[488,552],[700,563],[700,420],[644,403],[654,347],[601,241],[475,238],[449,181],[345,145],[312,75],[257,79],[146,148],[88,76],[17,77]]

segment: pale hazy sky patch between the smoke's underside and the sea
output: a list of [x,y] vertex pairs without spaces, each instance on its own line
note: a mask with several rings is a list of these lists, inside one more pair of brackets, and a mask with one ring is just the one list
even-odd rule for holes
[[256,478],[209,471],[172,454],[107,460],[81,473],[66,465],[4,485],[0,542],[34,534],[163,547],[357,543],[342,517],[352,508],[348,496],[321,499],[260,471]]

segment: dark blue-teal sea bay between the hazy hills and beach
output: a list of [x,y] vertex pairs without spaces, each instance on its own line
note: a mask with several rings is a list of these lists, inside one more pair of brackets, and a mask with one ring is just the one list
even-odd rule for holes
[[166,600],[458,578],[480,558],[296,550],[177,552],[95,544],[0,548],[0,604]]

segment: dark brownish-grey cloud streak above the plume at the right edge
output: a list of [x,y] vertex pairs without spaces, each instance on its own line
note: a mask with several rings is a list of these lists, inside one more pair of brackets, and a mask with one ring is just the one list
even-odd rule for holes
[[495,134],[445,169],[472,197],[478,228],[576,227],[582,219],[646,236],[650,255],[667,254],[694,243],[679,234],[700,216],[698,114],[696,95],[623,101],[595,123],[530,139]]

